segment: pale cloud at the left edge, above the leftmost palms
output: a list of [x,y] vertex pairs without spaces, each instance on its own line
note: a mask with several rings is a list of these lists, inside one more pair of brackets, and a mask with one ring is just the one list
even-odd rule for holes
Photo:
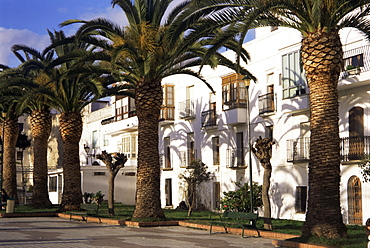
[[27,45],[37,50],[42,50],[49,44],[49,37],[47,35],[40,36],[26,29],[18,30],[0,27],[0,64],[10,67],[19,65],[19,60],[10,50],[14,44]]

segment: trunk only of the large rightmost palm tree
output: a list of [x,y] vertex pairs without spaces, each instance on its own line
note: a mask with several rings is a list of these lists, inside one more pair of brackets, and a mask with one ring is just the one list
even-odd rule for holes
[[303,235],[346,237],[339,190],[337,85],[343,67],[339,35],[316,32],[305,37],[302,62],[310,88],[311,114],[308,210]]

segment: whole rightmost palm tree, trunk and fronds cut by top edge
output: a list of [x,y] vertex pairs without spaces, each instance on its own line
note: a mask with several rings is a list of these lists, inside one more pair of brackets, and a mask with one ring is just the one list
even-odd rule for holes
[[[346,237],[340,208],[338,129],[339,74],[343,51],[339,31],[356,28],[370,38],[369,0],[202,0],[197,10],[214,10],[204,23],[218,20],[235,35],[255,26],[283,26],[302,34],[301,59],[310,88],[309,198],[304,236]],[[233,13],[230,15],[230,13]],[[233,23],[233,25],[230,25]],[[249,26],[248,26],[249,25]],[[255,27],[254,26],[254,27]],[[323,152],[324,151],[324,152]],[[324,190],[323,190],[324,189]]]

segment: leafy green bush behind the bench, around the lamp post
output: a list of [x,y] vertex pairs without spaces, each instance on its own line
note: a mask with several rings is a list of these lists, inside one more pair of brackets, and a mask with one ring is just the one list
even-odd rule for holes
[[[221,209],[234,212],[252,212],[250,203],[249,184],[241,184],[235,182],[238,187],[235,191],[224,192],[224,197],[221,199]],[[262,204],[262,186],[253,183],[253,202],[254,207],[261,207]]]

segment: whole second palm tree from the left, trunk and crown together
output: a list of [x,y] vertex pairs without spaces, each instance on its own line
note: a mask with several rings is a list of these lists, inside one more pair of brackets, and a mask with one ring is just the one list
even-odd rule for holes
[[37,208],[51,206],[48,194],[48,139],[51,133],[52,116],[48,99],[42,94],[36,94],[44,87],[49,87],[50,81],[55,77],[55,70],[49,70],[48,65],[53,61],[53,50],[45,49],[39,52],[26,45],[13,45],[13,53],[22,63],[19,68],[21,74],[18,80],[8,85],[27,89],[20,99],[22,106],[30,110],[30,129],[33,139],[33,194],[31,205]]

